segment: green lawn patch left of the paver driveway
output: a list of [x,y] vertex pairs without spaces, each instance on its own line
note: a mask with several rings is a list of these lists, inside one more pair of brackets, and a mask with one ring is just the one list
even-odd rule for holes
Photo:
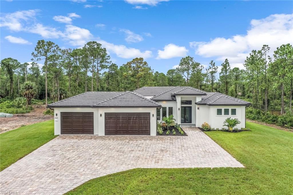
[[0,134],[0,170],[15,163],[54,137],[54,121],[40,122]]

